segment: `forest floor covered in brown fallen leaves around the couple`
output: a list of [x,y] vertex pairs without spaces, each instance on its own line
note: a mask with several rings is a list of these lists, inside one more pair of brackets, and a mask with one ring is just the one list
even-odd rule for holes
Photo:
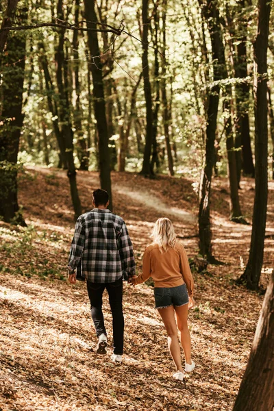
[[[97,173],[77,174],[83,212],[90,210]],[[251,223],[254,186],[241,183],[242,212]],[[190,258],[197,255],[197,195],[190,179],[113,173],[114,212],[123,216],[138,270],[153,223],[169,216]],[[153,288],[124,287],[125,356],[97,356],[85,284],[66,282],[74,221],[64,171],[34,167],[19,179],[27,227],[0,223],[0,410],[232,410],[245,371],[262,295],[236,286],[247,262],[251,225],[229,221],[227,180],[212,191],[214,256],[225,263],[194,273],[197,306],[190,310],[193,359],[184,382],[173,380],[166,333],[153,308]],[[264,266],[274,256],[274,183],[269,184]],[[112,343],[110,308],[105,323]]]

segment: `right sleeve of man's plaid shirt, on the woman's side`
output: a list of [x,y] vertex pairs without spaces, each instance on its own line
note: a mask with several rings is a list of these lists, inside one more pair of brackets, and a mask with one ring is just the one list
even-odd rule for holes
[[132,240],[127,232],[127,226],[123,222],[121,235],[119,236],[119,251],[123,266],[123,271],[128,273],[129,276],[135,275],[135,259]]

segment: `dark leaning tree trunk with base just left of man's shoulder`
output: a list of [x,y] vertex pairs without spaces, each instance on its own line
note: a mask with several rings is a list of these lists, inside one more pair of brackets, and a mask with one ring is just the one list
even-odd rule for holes
[[[58,0],[58,18],[64,20],[63,15],[63,0]],[[71,199],[73,201],[73,209],[75,214],[75,219],[82,213],[81,202],[77,190],[76,182],[76,170],[73,158],[73,132],[71,129],[71,120],[70,120],[70,105],[68,90],[65,88],[65,77],[67,77],[66,64],[64,62],[64,29],[59,29],[59,42],[58,47],[55,51],[55,61],[57,63],[56,69],[56,82],[59,92],[59,117],[61,123],[61,138],[64,142],[65,158],[66,164],[68,166],[67,175],[69,177],[69,184],[71,188]]]

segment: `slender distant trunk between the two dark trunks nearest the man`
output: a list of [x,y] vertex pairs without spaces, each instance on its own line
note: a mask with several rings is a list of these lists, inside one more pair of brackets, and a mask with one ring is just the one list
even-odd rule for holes
[[[79,0],[75,0],[75,25],[79,22]],[[73,32],[73,77],[75,86],[75,108],[73,110],[75,134],[77,135],[77,154],[80,162],[80,170],[88,170],[88,150],[82,129],[82,105],[80,103],[81,87],[79,82],[79,40],[78,30]]]

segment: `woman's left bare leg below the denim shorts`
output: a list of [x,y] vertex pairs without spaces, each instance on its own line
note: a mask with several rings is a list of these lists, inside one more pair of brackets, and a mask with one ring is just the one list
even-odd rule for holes
[[177,335],[177,324],[175,321],[174,308],[173,306],[167,308],[158,308],[158,312],[162,317],[164,322],[164,327],[166,327],[167,332],[167,342],[169,345],[169,352],[176,366],[177,371],[182,371],[182,361],[181,361],[181,349],[179,347],[178,335]]

